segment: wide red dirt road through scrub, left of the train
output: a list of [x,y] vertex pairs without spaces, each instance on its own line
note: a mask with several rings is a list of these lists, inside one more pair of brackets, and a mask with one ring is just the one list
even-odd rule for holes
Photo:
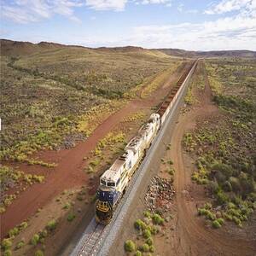
[[2,214],[1,237],[6,236],[10,229],[32,216],[39,207],[44,207],[64,189],[72,189],[88,183],[88,175],[83,172],[84,157],[87,156],[90,150],[96,147],[99,140],[109,131],[113,130],[126,115],[137,112],[142,108],[157,106],[170,90],[172,82],[178,79],[182,69],[183,68],[180,67],[177,68],[177,71],[168,79],[169,86],[164,84],[159,90],[154,92],[154,96],[146,100],[133,100],[125,105],[124,108],[110,115],[108,119],[102,122],[102,125],[96,128],[93,134],[84,143],[79,143],[79,145],[72,149],[63,149],[59,152],[44,151],[38,154],[40,159],[57,163],[58,166],[55,168],[49,170],[42,166],[20,165],[20,169],[44,173],[47,178],[44,183],[34,184],[26,189],[26,191],[22,192],[7,208],[7,211]]

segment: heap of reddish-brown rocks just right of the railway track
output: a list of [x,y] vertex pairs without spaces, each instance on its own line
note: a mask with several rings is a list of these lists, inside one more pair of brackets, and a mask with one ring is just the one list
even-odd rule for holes
[[172,206],[175,191],[171,180],[158,176],[152,177],[144,197],[148,209],[152,212],[167,212]]

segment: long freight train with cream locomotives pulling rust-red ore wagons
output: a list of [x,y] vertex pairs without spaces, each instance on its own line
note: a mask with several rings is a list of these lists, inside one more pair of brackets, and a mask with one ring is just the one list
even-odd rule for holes
[[110,223],[113,218],[113,212],[125,194],[125,189],[131,181],[131,177],[137,171],[154,137],[157,136],[161,126],[165,123],[166,117],[174,102],[176,102],[179,91],[182,89],[182,84],[193,73],[196,64],[197,61],[189,64],[189,67],[186,68],[177,84],[166,96],[158,111],[150,115],[148,122],[137,132],[137,136],[133,137],[125,146],[124,154],[114,160],[113,165],[103,172],[96,192],[96,223],[103,225]]

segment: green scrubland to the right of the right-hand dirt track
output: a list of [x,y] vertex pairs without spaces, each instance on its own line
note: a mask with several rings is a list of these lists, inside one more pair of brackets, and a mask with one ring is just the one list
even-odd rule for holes
[[[225,220],[242,226],[256,209],[256,94],[246,79],[256,66],[250,61],[248,65],[225,60],[207,64],[220,113],[183,137],[184,148],[195,158],[192,180],[205,185],[214,199],[211,207],[198,209],[199,215],[212,220],[213,228]],[[246,84],[242,92],[240,84]]]

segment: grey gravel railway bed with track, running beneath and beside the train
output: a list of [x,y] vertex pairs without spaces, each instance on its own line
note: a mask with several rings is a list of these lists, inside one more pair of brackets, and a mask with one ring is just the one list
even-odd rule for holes
[[[152,146],[148,149],[148,153],[146,154],[142,164],[139,166],[137,172],[131,178],[131,182],[128,185],[128,188],[125,192],[125,195],[120,200],[118,207],[115,212],[113,212],[113,218],[108,224],[108,226],[103,226],[102,224],[96,224],[95,218],[90,221],[90,224],[87,226],[86,230],[84,230],[84,234],[80,239],[77,246],[74,248],[71,256],[106,256],[108,255],[108,249],[110,248],[114,238],[118,234],[118,230],[120,225],[122,224],[123,219],[125,218],[125,212],[127,212],[128,207],[131,204],[131,200],[135,197],[137,192],[137,187],[143,181],[143,176],[148,170],[148,163],[152,158],[152,155],[155,152],[155,149],[160,144],[160,140],[166,133],[168,125],[171,123],[172,116],[177,110],[178,103],[180,102],[187,85],[187,82],[191,75],[194,73],[197,61],[193,63],[193,65],[189,66],[188,70],[183,73],[182,77],[179,79],[179,88],[177,86],[174,90],[177,93],[177,100],[172,105],[172,108],[168,111],[167,116],[165,117],[166,122],[161,127],[159,135],[154,138],[152,142]],[[170,97],[173,96],[173,90],[171,93],[166,96],[165,102],[170,101]],[[162,103],[161,108],[165,105],[165,102]],[[129,200],[128,200],[129,199]]]

